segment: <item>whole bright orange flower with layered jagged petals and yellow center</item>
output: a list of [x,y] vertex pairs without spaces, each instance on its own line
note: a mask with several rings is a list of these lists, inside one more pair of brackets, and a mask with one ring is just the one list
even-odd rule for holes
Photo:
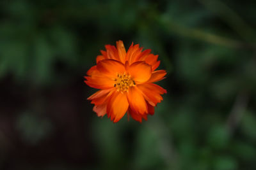
[[97,56],[97,65],[84,76],[90,87],[100,89],[88,97],[95,104],[93,111],[99,117],[108,115],[118,122],[125,113],[138,122],[147,115],[154,115],[154,107],[163,100],[166,93],[162,87],[154,84],[163,80],[166,71],[157,70],[160,61],[158,55],[144,50],[139,45],[130,46],[126,52],[123,41],[116,41],[116,47],[106,45],[106,51]]

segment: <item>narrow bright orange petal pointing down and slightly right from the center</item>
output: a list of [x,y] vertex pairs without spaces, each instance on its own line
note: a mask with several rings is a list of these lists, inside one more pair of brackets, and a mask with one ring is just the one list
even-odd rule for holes
[[141,115],[148,113],[147,103],[138,87],[129,88],[127,92],[127,99],[132,111],[140,113]]

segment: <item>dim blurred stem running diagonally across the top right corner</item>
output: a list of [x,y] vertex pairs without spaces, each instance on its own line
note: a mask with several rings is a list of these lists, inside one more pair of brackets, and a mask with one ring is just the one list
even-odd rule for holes
[[245,41],[254,40],[255,31],[250,25],[244,22],[243,18],[239,17],[235,11],[229,8],[222,1],[214,0],[198,0],[206,8],[219,15],[234,31],[237,32]]

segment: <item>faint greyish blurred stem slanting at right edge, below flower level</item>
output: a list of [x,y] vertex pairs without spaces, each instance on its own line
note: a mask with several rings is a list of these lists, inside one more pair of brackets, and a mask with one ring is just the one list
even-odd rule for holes
[[243,113],[246,111],[248,100],[249,96],[247,92],[242,91],[237,95],[236,101],[227,120],[227,130],[230,134],[234,133],[237,125],[241,122]]

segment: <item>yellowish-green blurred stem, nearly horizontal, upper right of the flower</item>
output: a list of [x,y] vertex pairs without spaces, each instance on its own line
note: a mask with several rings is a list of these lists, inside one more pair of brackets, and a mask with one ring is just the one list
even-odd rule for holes
[[234,39],[216,36],[214,34],[204,32],[199,29],[186,28],[181,25],[175,24],[175,22],[170,19],[164,18],[163,20],[161,20],[161,24],[163,24],[168,31],[175,32],[179,36],[199,39],[201,41],[206,41],[208,43],[213,43],[221,46],[227,46],[230,48],[252,48],[254,50],[256,49],[256,45],[254,44],[244,43]]

